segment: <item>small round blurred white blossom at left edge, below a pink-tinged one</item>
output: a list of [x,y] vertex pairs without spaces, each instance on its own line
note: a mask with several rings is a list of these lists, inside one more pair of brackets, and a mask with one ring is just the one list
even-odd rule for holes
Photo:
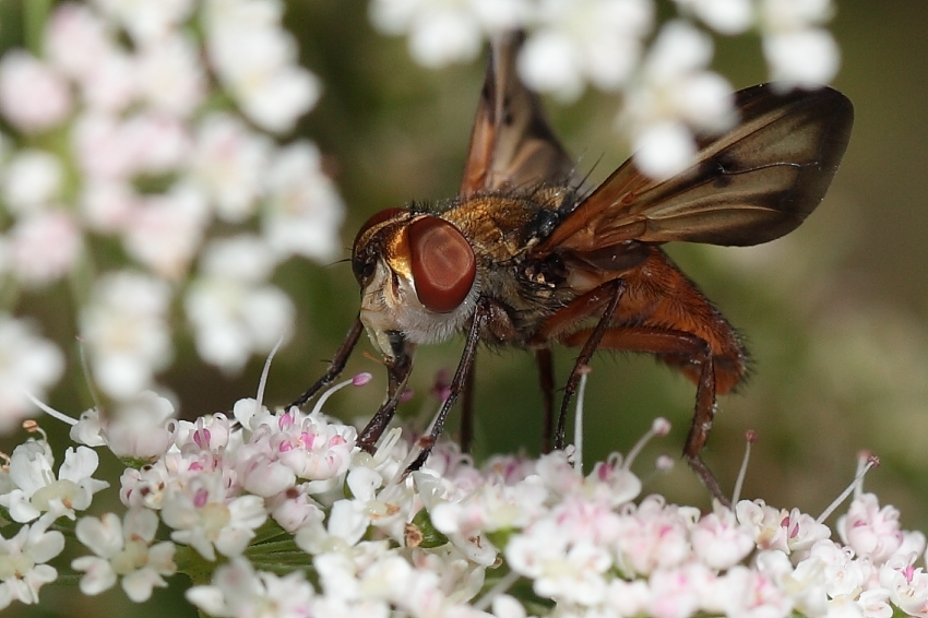
[[3,201],[10,212],[24,214],[49,205],[61,191],[61,159],[35,148],[23,148],[7,162],[3,175]]

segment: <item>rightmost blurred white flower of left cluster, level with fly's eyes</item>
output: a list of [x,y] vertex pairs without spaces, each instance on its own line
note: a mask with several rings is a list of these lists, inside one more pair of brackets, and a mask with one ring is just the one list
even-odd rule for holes
[[319,148],[307,141],[285,146],[272,162],[266,182],[269,203],[261,229],[278,259],[297,254],[330,260],[337,255],[345,205],[322,171]]

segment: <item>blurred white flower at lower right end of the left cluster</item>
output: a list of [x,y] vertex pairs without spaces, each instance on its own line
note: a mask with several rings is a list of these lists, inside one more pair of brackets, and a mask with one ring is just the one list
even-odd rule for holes
[[201,358],[230,372],[253,354],[267,354],[289,338],[296,308],[290,298],[264,281],[274,254],[258,237],[213,241],[203,253],[202,275],[185,298]]

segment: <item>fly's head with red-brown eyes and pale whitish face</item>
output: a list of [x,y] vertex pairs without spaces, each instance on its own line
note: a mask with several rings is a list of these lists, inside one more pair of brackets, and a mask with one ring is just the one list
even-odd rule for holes
[[358,231],[352,270],[360,319],[388,359],[408,345],[447,341],[473,317],[479,296],[474,249],[448,221],[406,209],[374,214]]

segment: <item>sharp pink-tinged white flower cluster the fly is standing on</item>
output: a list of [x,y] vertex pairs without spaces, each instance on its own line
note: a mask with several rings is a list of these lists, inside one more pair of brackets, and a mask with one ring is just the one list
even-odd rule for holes
[[[406,474],[415,439],[393,429],[370,455],[319,405],[242,400],[189,423],[138,399],[134,416],[72,420],[82,444],[57,475],[44,437],[8,457],[0,508],[22,526],[0,536],[0,608],[37,603],[58,578],[47,562],[76,539],[91,551],[71,563],[84,594],[119,583],[142,602],[194,571],[209,583],[187,598],[216,617],[928,616],[925,535],[859,485],[837,542],[761,500],[703,514],[640,498],[618,455],[584,476],[570,450],[476,467],[445,442]],[[83,514],[109,486],[93,477],[100,445],[135,462],[123,514]]]

